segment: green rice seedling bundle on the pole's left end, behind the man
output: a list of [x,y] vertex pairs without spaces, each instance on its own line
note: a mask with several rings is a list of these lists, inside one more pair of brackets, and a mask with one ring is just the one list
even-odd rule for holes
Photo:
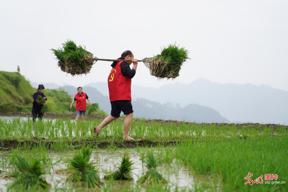
[[94,64],[93,54],[85,49],[85,46],[77,46],[73,41],[67,39],[62,43],[62,48],[51,49],[60,69],[71,75],[87,74]]

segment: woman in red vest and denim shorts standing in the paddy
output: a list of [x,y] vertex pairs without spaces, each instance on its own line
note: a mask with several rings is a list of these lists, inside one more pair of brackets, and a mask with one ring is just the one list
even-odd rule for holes
[[75,97],[70,105],[70,109],[72,109],[72,105],[76,101],[76,120],[81,116],[82,121],[84,121],[84,116],[86,112],[86,99],[89,101],[90,105],[92,105],[92,101],[88,98],[88,95],[82,91],[82,87],[77,88],[78,93],[75,94]]

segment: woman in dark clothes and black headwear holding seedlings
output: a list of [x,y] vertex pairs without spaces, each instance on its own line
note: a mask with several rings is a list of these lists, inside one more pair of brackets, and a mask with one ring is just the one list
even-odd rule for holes
[[43,91],[44,86],[43,85],[39,85],[38,86],[38,89],[37,89],[37,92],[35,92],[33,94],[33,107],[32,107],[32,116],[33,116],[33,122],[35,121],[37,115],[38,115],[38,118],[41,120],[42,119],[42,116],[43,116],[43,113],[41,112],[41,109],[43,107],[43,101],[38,101],[37,99],[37,96],[38,95],[41,95],[41,97],[44,99],[44,100],[47,100],[47,97],[46,95],[44,95],[44,93],[42,92]]

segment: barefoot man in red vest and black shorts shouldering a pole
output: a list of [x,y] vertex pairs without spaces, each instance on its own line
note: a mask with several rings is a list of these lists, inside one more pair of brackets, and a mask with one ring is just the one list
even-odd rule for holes
[[[134,59],[134,55],[129,50],[124,51],[118,59],[130,61],[115,61],[111,65],[112,70],[107,80],[111,103],[111,115],[106,117],[98,127],[94,127],[94,136],[97,136],[103,127],[118,119],[122,111],[124,115],[126,115],[124,120],[123,139],[134,140],[128,133],[133,117],[131,104],[131,79],[136,73],[138,60]],[[129,66],[131,63],[133,63],[132,69]]]

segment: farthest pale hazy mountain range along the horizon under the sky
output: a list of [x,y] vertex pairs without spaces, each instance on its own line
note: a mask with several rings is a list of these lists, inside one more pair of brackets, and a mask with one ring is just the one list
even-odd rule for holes
[[[108,95],[106,82],[90,83]],[[267,85],[219,84],[200,78],[190,84],[172,83],[160,88],[133,85],[132,99],[145,98],[182,107],[196,103],[217,110],[232,122],[288,123],[288,91]]]

